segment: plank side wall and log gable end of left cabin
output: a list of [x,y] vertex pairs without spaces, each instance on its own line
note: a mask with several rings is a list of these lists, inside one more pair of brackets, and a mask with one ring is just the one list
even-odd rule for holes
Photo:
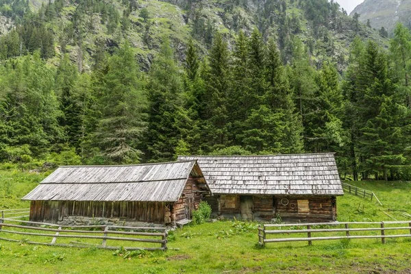
[[190,177],[175,203],[155,201],[32,201],[30,221],[57,223],[64,216],[123,218],[147,223],[191,219],[202,198],[199,181]]

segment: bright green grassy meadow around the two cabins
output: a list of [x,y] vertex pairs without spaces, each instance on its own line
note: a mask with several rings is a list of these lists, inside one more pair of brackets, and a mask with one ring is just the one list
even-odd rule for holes
[[[0,210],[27,208],[20,201],[45,174],[0,171]],[[406,220],[409,182],[350,182],[372,190],[383,203],[338,197],[338,221]],[[385,213],[384,213],[385,212]],[[388,215],[390,216],[388,216]],[[169,250],[110,251],[0,240],[3,273],[410,273],[411,238],[351,239],[257,245],[258,223],[217,221],[171,232]],[[369,232],[379,233],[379,232]],[[406,232],[407,233],[407,232]],[[10,235],[7,235],[10,237]],[[320,234],[318,235],[320,236]],[[327,234],[329,236],[329,234]],[[0,238],[5,233],[0,232]],[[60,239],[59,239],[60,240]]]

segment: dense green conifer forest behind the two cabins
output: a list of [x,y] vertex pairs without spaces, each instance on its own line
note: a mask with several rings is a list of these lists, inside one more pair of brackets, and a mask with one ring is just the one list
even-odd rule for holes
[[[164,35],[142,70],[136,45],[123,37],[114,48],[97,45],[84,69],[81,51],[76,60],[66,52],[87,39],[84,14],[99,14],[106,31],[119,34],[131,27],[136,1],[121,2],[123,14],[110,2],[75,1],[60,36],[48,22],[65,1],[37,12],[28,1],[0,1],[16,24],[0,36],[3,168],[334,151],[343,177],[411,179],[411,35],[402,25],[388,48],[356,36],[345,60],[324,28],[344,31],[342,19],[332,20],[344,12],[333,1],[305,1],[312,32],[326,41],[320,60],[313,40],[297,35],[298,17],[280,16],[288,2],[266,1],[271,12],[250,31],[227,35],[193,21],[183,60]],[[138,12],[148,20],[147,9]],[[284,25],[271,35],[275,20]],[[356,19],[349,26],[364,28]]]

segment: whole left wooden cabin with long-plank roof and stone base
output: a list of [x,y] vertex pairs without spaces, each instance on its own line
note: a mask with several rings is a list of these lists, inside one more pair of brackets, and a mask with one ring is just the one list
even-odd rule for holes
[[62,166],[23,197],[30,221],[68,216],[175,224],[190,220],[210,188],[195,160],[123,166]]

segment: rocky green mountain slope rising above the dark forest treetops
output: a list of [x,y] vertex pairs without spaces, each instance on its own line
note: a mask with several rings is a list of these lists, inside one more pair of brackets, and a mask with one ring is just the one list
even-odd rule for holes
[[[10,11],[7,7],[14,7],[15,3],[25,2],[1,0],[0,13]],[[275,38],[284,62],[290,60],[293,39],[299,38],[308,46],[313,64],[331,59],[338,63],[340,71],[346,66],[349,45],[355,36],[386,45],[377,32],[356,24],[340,11],[338,3],[327,0],[32,0],[29,6],[43,12],[40,18],[49,17],[42,24],[53,33],[55,53],[51,62],[58,63],[62,53],[69,53],[80,71],[90,69],[99,50],[112,52],[125,39],[132,43],[140,67],[147,71],[164,36],[170,38],[182,61],[190,37],[206,53],[215,32],[221,32],[232,45],[240,30],[250,34],[254,28],[266,40]],[[18,16],[6,18],[5,12],[2,16],[3,21],[22,21],[17,20]],[[4,36],[10,29],[0,31]]]

